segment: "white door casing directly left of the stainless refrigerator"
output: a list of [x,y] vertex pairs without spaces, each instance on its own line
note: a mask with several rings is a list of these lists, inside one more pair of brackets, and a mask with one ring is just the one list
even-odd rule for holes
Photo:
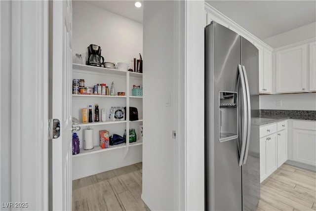
[[204,210],[204,1],[185,1],[185,210]]

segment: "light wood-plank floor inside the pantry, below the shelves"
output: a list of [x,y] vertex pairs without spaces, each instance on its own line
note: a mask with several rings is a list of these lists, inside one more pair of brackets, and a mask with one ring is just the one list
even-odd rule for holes
[[73,181],[75,211],[150,211],[141,200],[142,163]]

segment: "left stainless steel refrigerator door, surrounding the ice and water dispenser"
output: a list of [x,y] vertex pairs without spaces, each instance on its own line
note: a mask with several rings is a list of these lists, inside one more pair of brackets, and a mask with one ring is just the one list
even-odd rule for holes
[[[240,36],[215,22],[205,28],[206,210],[242,209],[238,139],[220,142],[219,91],[234,91]],[[237,105],[238,106],[238,105]],[[232,120],[235,121],[235,120]]]

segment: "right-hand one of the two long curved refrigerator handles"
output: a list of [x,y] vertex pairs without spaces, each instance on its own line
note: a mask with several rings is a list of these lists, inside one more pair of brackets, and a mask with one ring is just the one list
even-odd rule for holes
[[246,73],[245,66],[242,65],[242,72],[245,79],[246,85],[246,96],[247,96],[247,139],[246,139],[246,150],[243,158],[243,164],[246,164],[247,157],[248,157],[248,150],[249,150],[249,143],[250,143],[250,128],[251,128],[251,105],[250,105],[250,90],[248,84],[248,78]]

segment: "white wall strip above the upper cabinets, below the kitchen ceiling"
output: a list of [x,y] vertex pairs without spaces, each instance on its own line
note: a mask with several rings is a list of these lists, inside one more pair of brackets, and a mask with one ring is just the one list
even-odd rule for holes
[[263,40],[263,42],[266,42],[273,48],[277,48],[295,42],[309,40],[315,37],[316,22],[267,38]]

